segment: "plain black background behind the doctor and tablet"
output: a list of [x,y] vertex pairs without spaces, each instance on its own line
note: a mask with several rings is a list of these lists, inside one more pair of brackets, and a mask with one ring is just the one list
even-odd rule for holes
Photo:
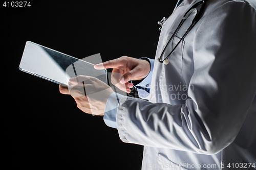
[[[140,169],[143,147],[123,143],[102,116],[83,113],[57,84],[18,69],[26,41],[84,58],[154,58],[159,21],[177,1],[1,3],[1,167]],[[111,70],[109,70],[111,71]]]

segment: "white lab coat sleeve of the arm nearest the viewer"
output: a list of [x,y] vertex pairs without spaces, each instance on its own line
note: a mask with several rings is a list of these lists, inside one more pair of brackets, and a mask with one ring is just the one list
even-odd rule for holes
[[236,138],[256,93],[256,11],[230,2],[203,17],[189,98],[175,106],[122,98],[117,129],[123,142],[215,154]]

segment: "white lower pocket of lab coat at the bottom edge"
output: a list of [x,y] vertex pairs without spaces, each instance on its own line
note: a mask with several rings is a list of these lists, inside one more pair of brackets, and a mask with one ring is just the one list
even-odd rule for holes
[[184,170],[182,165],[176,164],[169,160],[165,155],[158,154],[157,158],[157,169],[158,170]]

